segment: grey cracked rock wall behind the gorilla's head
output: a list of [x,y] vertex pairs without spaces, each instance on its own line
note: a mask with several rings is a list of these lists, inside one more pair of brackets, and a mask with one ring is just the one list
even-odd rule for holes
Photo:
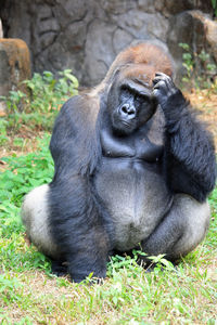
[[98,83],[115,55],[136,39],[166,44],[178,72],[179,42],[188,41],[196,50],[203,39],[202,43],[212,52],[203,23],[201,24],[196,25],[197,18],[191,14],[195,9],[213,22],[208,15],[210,1],[203,0],[1,0],[0,3],[4,37],[27,42],[33,70],[72,68],[85,86]]

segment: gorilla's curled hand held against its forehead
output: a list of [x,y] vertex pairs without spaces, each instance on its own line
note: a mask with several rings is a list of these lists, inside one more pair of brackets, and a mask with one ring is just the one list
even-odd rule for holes
[[174,107],[180,100],[182,102],[183,95],[169,76],[163,73],[156,73],[153,84],[153,94],[164,112],[169,110],[169,108]]

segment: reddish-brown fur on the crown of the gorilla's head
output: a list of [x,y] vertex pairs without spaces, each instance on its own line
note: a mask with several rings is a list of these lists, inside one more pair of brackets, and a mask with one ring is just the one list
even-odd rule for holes
[[152,80],[157,72],[171,77],[174,67],[171,58],[162,48],[148,42],[120,52],[104,81],[111,81],[117,70],[122,70],[123,78],[140,79],[152,87]]

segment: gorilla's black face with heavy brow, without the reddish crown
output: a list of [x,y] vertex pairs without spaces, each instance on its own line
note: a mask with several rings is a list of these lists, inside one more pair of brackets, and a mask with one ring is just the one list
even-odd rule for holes
[[144,125],[156,110],[156,102],[151,90],[132,80],[119,87],[113,84],[108,93],[108,112],[114,132],[131,134]]

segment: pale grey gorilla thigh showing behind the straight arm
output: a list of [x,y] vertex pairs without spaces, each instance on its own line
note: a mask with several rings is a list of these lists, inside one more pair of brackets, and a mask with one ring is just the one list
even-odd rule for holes
[[48,222],[48,194],[49,185],[44,184],[34,188],[25,196],[22,207],[22,220],[26,234],[38,250],[49,257],[58,257],[58,248],[53,243]]

